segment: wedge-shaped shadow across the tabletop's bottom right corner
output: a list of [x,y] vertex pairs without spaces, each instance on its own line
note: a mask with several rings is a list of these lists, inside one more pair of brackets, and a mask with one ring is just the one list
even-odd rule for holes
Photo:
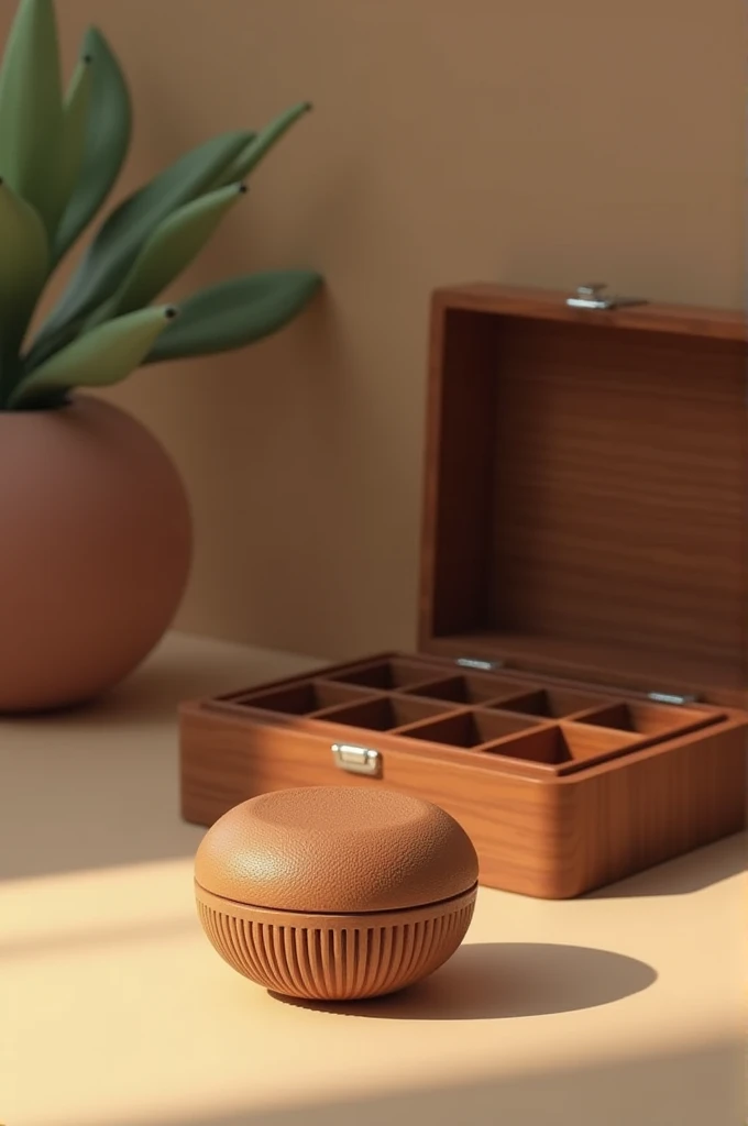
[[[563,1036],[563,1026],[559,1026]],[[303,1036],[294,1045],[304,1051]],[[356,1051],[355,1043],[351,1051]],[[345,1069],[345,1060],[340,1061]],[[194,1117],[112,1117],[107,1126],[739,1126],[745,1121],[743,1049],[720,1039],[683,1051],[649,1052],[614,1063],[582,1062],[465,1078],[461,1083],[374,1093],[386,1087],[386,1057],[372,1061],[367,1092],[296,1106],[237,1107]],[[293,1070],[288,1091],[293,1094]],[[78,1126],[60,1120],[54,1126]]]

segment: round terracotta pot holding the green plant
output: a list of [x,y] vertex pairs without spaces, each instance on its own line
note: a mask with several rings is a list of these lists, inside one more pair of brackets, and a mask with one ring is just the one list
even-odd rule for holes
[[0,412],[0,711],[82,703],[170,625],[192,554],[171,461],[91,397]]

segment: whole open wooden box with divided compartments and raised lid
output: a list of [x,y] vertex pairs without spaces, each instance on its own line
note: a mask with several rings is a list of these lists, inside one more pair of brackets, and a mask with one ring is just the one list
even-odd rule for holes
[[743,318],[463,286],[429,352],[419,653],[182,705],[184,816],[388,786],[547,899],[740,830]]

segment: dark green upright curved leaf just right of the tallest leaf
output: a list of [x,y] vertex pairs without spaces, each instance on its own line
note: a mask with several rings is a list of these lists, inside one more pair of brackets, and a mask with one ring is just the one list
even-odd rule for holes
[[91,27],[86,33],[82,56],[91,60],[86,136],[80,176],[69,194],[54,239],[55,262],[86,230],[112,191],[125,162],[132,134],[133,114],[127,83],[114,52],[98,28]]

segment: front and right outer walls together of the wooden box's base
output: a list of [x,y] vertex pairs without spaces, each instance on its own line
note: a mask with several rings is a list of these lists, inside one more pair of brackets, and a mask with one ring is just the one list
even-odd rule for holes
[[181,806],[211,825],[257,794],[295,786],[384,786],[440,805],[464,826],[484,886],[571,899],[737,832],[746,824],[745,721],[545,781],[429,759],[373,741],[381,778],[340,770],[335,726],[252,722],[197,704],[180,716]]

